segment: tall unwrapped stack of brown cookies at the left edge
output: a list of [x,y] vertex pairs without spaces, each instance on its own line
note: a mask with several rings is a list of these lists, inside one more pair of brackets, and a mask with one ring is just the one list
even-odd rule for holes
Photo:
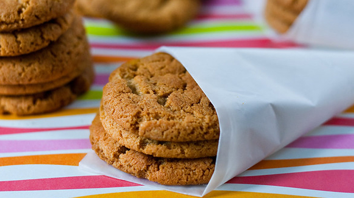
[[93,81],[74,0],[0,1],[0,114],[59,109]]

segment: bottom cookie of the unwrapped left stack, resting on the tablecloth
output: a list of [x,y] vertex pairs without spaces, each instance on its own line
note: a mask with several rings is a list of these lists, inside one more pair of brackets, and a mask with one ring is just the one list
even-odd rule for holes
[[80,76],[54,90],[24,96],[0,95],[0,114],[32,115],[58,110],[88,91],[93,78],[94,68],[87,65]]

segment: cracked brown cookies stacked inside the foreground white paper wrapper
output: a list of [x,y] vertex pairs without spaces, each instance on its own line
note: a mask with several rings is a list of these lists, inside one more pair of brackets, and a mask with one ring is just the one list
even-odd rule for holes
[[111,73],[90,132],[102,160],[136,177],[197,185],[214,171],[216,111],[182,64],[166,53]]

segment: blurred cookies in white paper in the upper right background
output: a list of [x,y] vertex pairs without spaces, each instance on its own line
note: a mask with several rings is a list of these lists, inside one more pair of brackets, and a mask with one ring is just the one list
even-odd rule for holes
[[287,39],[354,49],[353,0],[267,0],[266,22]]

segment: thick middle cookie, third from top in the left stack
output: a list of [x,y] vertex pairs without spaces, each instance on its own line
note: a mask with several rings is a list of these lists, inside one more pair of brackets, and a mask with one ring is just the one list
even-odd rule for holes
[[81,55],[89,48],[81,17],[45,49],[33,53],[0,57],[0,85],[47,83],[74,71]]

